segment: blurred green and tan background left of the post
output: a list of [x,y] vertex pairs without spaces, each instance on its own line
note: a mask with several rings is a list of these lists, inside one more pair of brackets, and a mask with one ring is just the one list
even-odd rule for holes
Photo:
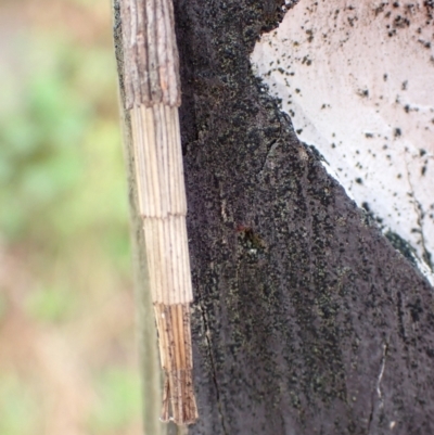
[[110,0],[0,0],[0,434],[140,434]]

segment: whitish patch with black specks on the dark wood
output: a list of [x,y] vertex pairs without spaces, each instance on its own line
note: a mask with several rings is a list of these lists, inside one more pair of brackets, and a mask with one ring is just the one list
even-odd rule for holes
[[384,232],[411,246],[434,283],[430,4],[301,0],[256,43],[252,63],[301,141]]

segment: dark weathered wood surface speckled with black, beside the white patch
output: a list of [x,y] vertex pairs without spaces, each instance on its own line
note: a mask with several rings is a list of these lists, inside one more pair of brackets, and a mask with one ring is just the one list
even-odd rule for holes
[[251,71],[282,2],[174,3],[200,414],[189,434],[433,434],[433,289]]

